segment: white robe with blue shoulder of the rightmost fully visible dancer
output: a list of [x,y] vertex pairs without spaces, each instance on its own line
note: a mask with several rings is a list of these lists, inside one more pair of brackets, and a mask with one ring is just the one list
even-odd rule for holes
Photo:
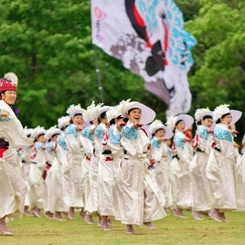
[[210,152],[207,177],[212,190],[212,208],[220,211],[237,209],[235,188],[235,151],[228,127],[217,124],[214,129],[216,149]]

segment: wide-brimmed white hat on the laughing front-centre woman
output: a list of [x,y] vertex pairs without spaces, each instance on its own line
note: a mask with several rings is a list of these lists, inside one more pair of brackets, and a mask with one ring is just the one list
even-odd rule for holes
[[154,110],[152,110],[150,107],[140,102],[126,100],[126,101],[122,101],[121,103],[120,103],[121,105],[119,106],[120,106],[121,113],[124,117],[128,114],[129,110],[132,110],[132,109],[141,110],[140,123],[142,124],[149,124],[156,117],[156,112]]

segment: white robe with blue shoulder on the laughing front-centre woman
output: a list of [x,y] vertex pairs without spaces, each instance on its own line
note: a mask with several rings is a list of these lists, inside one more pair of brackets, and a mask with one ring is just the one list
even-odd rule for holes
[[154,169],[147,157],[150,140],[143,129],[137,130],[129,121],[123,127],[121,144],[127,151],[119,163],[116,194],[119,219],[123,224],[142,226],[144,222],[167,216],[162,194],[156,183]]

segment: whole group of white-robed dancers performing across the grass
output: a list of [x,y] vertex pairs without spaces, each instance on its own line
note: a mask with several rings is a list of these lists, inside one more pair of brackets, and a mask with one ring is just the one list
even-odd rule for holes
[[234,142],[240,111],[200,108],[164,124],[136,101],[92,102],[69,106],[58,126],[23,129],[7,100],[16,98],[13,80],[0,84],[0,234],[13,235],[6,220],[23,212],[63,221],[78,211],[88,224],[97,216],[102,230],[116,219],[134,234],[134,225],[156,229],[170,210],[227,222],[227,211],[245,209],[245,154]]

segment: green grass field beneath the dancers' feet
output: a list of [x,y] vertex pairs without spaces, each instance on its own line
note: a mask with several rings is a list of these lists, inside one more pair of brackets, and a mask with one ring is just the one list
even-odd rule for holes
[[88,225],[78,214],[76,220],[63,222],[23,216],[7,224],[15,235],[0,236],[0,245],[245,245],[245,212],[228,213],[228,223],[197,221],[190,212],[185,215],[188,219],[171,213],[154,222],[156,230],[135,227],[135,235],[126,234],[125,226],[118,221],[113,221],[112,231],[102,231],[97,218],[94,225]]

